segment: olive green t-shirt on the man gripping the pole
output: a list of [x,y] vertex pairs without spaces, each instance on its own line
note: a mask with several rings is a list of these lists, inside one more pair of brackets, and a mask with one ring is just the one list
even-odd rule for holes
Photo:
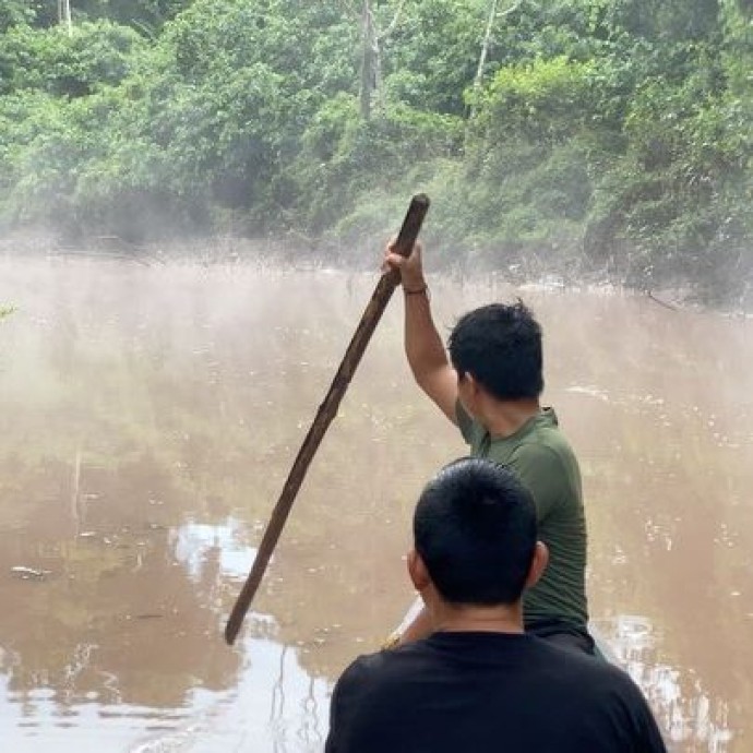
[[524,596],[526,625],[562,620],[585,628],[586,521],[581,470],[554,411],[545,408],[504,438],[492,438],[459,402],[456,413],[470,454],[507,466],[536,502],[539,538],[549,548],[549,564]]

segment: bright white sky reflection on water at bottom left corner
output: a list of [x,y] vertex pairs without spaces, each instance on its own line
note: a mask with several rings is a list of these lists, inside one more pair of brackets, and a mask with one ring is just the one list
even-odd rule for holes
[[[266,623],[268,618],[250,615],[251,624],[256,621]],[[224,692],[196,688],[180,708],[128,704],[117,692],[109,703],[97,693],[60,702],[57,691],[44,684],[27,693],[13,692],[9,682],[13,668],[5,673],[3,660],[3,750],[321,751],[327,729],[328,683],[312,678],[301,668],[297,652],[275,641],[246,640],[242,650],[253,659],[237,686]],[[111,680],[116,681],[115,676]]]

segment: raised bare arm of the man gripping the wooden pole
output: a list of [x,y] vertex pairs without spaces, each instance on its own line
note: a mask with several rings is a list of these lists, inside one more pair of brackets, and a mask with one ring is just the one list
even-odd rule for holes
[[456,425],[457,374],[431,315],[421,244],[417,242],[407,259],[392,253],[391,248],[391,244],[386,248],[385,262],[401,273],[405,298],[405,355],[410,370],[418,386]]

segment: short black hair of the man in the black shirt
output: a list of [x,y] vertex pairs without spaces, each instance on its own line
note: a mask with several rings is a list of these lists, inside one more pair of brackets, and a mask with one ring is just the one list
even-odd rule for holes
[[452,603],[515,603],[536,540],[530,492],[492,461],[451,463],[429,481],[416,505],[416,551],[437,590]]

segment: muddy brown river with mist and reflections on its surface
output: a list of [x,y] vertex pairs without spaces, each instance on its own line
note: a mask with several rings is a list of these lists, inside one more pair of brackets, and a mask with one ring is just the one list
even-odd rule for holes
[[[378,259],[374,260],[374,267]],[[413,504],[459,437],[391,303],[241,637],[223,628],[374,274],[0,259],[0,750],[321,751],[339,671],[413,599]],[[753,320],[521,295],[579,455],[591,617],[672,750],[753,751]]]

